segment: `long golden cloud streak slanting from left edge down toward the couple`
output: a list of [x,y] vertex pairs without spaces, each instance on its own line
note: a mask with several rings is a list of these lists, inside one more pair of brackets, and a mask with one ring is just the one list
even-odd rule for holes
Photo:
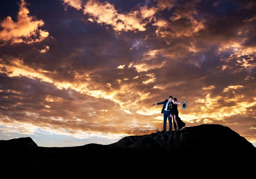
[[[1,63],[2,62],[2,63]],[[134,93],[133,92],[133,86],[134,84],[122,84],[122,80],[117,79],[117,82],[120,84],[120,89],[118,91],[114,91],[111,90],[109,92],[104,91],[103,89],[99,88],[91,88],[90,86],[92,86],[93,84],[86,84],[86,83],[81,83],[79,81],[75,81],[72,83],[69,82],[59,82],[57,80],[55,80],[54,78],[52,78],[51,74],[48,74],[47,72],[44,72],[42,70],[40,71],[36,71],[33,68],[30,68],[26,65],[24,65],[22,60],[19,59],[10,59],[10,63],[8,65],[5,65],[3,63],[3,61],[0,59],[0,70],[3,69],[1,67],[5,67],[6,71],[0,71],[1,73],[6,73],[9,77],[19,77],[19,76],[25,76],[28,78],[39,78],[41,81],[44,82],[48,82],[48,83],[52,83],[54,84],[58,89],[73,89],[81,94],[86,94],[88,96],[92,96],[95,98],[105,98],[108,100],[111,100],[117,104],[120,105],[121,110],[125,111],[126,113],[131,114],[132,112],[130,111],[130,107],[134,106],[136,108],[136,102],[141,101],[141,100],[145,100],[146,98],[148,98],[149,93],[143,93],[143,92],[139,92],[139,93]],[[9,73],[11,72],[11,73]],[[48,77],[48,75],[50,75],[51,77]],[[154,74],[146,74],[145,76],[150,77],[149,81],[146,81],[144,83],[149,83],[149,82],[153,82],[155,81],[155,77]],[[97,86],[97,85],[95,85]],[[111,87],[111,84],[107,84],[108,87]],[[124,94],[129,94],[129,95],[135,95],[137,96],[137,100],[132,103],[131,105],[124,103],[123,101],[121,101],[122,99],[120,99],[118,96],[119,95],[124,95]],[[47,96],[45,98],[44,101],[47,102],[55,102],[55,101],[61,101],[61,98],[56,98],[56,97],[51,97],[51,96]],[[49,110],[47,110],[47,112],[50,112]]]

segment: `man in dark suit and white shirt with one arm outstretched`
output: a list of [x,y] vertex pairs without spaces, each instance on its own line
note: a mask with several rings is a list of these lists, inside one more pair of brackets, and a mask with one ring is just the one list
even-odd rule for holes
[[164,100],[163,102],[158,102],[158,103],[155,103],[153,104],[154,105],[164,105],[163,108],[162,108],[162,111],[161,113],[164,114],[164,131],[166,131],[166,124],[167,124],[167,117],[168,117],[168,121],[169,121],[169,131],[171,131],[173,129],[173,125],[172,125],[172,102],[173,100],[173,97],[172,96],[169,96],[169,100]]

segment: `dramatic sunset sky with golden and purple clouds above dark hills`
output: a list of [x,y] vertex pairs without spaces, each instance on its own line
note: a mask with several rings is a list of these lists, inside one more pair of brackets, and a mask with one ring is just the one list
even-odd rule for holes
[[[220,124],[256,146],[256,2],[1,0],[0,140],[112,144]],[[167,122],[167,128],[169,124]]]

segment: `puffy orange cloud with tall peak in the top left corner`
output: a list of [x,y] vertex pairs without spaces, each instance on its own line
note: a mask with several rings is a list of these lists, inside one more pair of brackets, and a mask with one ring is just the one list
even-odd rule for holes
[[[35,43],[42,42],[48,37],[49,33],[38,29],[44,25],[43,20],[36,20],[29,16],[29,10],[26,3],[21,0],[18,20],[14,22],[10,16],[2,21],[0,26],[3,28],[0,32],[0,40],[14,43]],[[25,38],[25,39],[24,39]]]

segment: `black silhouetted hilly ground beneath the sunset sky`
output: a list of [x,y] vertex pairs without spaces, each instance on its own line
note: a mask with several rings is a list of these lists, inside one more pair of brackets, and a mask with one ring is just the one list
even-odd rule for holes
[[256,169],[255,147],[215,124],[110,145],[39,147],[24,137],[1,140],[0,152],[4,178],[254,178]]

